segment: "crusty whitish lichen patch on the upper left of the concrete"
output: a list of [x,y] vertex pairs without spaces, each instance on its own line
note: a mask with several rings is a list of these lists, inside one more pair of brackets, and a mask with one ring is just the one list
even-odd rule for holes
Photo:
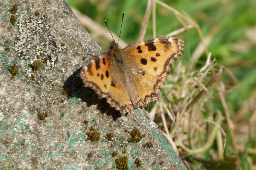
[[13,49],[20,59],[24,59],[28,63],[25,76],[33,76],[33,70],[29,64],[34,62],[42,62],[40,69],[44,69],[44,71],[55,67],[58,62],[58,54],[66,47],[57,46],[51,33],[51,27],[44,18],[25,18],[17,26],[18,31]]

